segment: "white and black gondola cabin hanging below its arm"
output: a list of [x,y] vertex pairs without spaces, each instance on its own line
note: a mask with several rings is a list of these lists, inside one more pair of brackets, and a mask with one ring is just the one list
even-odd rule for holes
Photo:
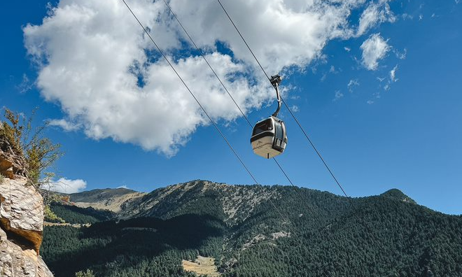
[[266,159],[284,152],[287,144],[286,125],[279,118],[269,118],[257,122],[251,136],[253,152]]

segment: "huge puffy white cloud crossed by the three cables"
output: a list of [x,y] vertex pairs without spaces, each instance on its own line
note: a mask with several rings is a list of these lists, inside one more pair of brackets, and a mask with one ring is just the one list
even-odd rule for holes
[[[214,120],[232,121],[239,111],[190,45],[163,1],[127,1],[160,48],[172,59]],[[223,1],[268,73],[304,69],[333,38],[349,38],[351,10],[364,0]],[[207,52],[244,112],[274,100],[253,57],[216,1],[171,0],[195,42]],[[25,47],[38,65],[37,86],[58,103],[67,120],[92,139],[111,138],[174,155],[199,126],[209,122],[154,50],[122,1],[61,0],[42,24],[23,29]],[[218,51],[217,43],[230,55]]]

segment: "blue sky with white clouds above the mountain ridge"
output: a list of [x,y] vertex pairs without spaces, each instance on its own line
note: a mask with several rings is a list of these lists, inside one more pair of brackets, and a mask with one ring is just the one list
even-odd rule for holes
[[[75,190],[84,185],[85,190],[125,185],[146,192],[194,179],[253,183],[214,127],[193,106],[176,76],[158,59],[158,53],[143,38],[127,10],[118,1],[101,1],[106,6],[81,1],[81,7],[73,2],[78,1],[8,1],[0,17],[0,104],[23,113],[38,106],[37,122],[54,120],[48,135],[61,143],[65,152],[57,162],[59,178],[76,184]],[[172,7],[178,8],[180,20],[183,18],[198,44],[207,49],[230,92],[241,93],[238,101],[246,107],[248,118],[256,122],[270,115],[275,107],[274,92],[239,44],[224,15],[219,10],[211,15],[209,9],[214,8],[214,1],[204,1],[204,8],[195,7],[192,13],[188,13],[188,5],[180,6],[179,2],[172,1]],[[307,26],[302,20],[314,20],[313,17],[304,15],[298,6],[287,5],[280,15],[292,16],[282,18],[289,22],[290,31],[276,32],[271,37],[262,32],[272,28],[267,26],[271,21],[249,22],[248,18],[258,14],[261,5],[274,1],[256,2],[260,7],[249,6],[235,14],[237,25],[249,37],[267,71],[281,72],[285,77],[281,87],[286,101],[295,109],[346,193],[362,197],[396,187],[419,204],[443,213],[461,214],[462,3],[372,1],[342,8],[326,6],[322,8],[331,9],[335,16],[316,11],[322,20]],[[229,100],[219,93],[216,80],[195,57],[197,53],[190,50],[176,22],[142,12],[146,3],[151,5],[148,11],[163,10],[163,2],[128,3],[134,5],[135,11],[138,7],[141,20],[151,24],[153,37],[175,60],[193,92],[202,97],[204,106],[218,120],[258,182],[287,185],[273,161],[253,154],[246,121],[228,102],[221,106]],[[224,3],[229,5],[230,13],[238,9],[232,1]],[[115,6],[113,13],[111,6]],[[240,6],[243,7],[246,8]],[[80,12],[93,9],[97,13],[89,12],[92,20],[104,22],[102,27],[91,25],[94,22],[85,21],[87,17],[72,22],[72,8]],[[319,7],[309,8],[313,11]],[[367,9],[375,11],[370,14],[373,20],[367,23],[364,16],[361,25],[360,18]],[[295,12],[302,23],[292,22]],[[118,24],[114,22],[121,15],[125,25],[111,27]],[[48,25],[42,22],[46,16]],[[335,22],[341,16],[344,22]],[[199,21],[195,17],[218,21],[195,25]],[[116,21],[111,22],[114,18]],[[168,24],[162,21],[165,18]],[[111,34],[112,29],[125,26],[129,26],[126,32]],[[98,36],[92,36],[93,30]],[[114,49],[122,52],[112,52],[111,59],[99,63],[111,43],[94,43],[94,38],[105,32],[113,44],[120,43]],[[67,44],[69,41],[72,43]],[[130,50],[131,41],[138,43],[134,50]],[[124,47],[128,49],[125,52]],[[90,59],[92,62],[87,62]],[[102,67],[109,60],[113,64]],[[120,62],[124,60],[130,62],[130,68]],[[125,70],[117,71],[118,66]],[[96,73],[92,75],[90,69]],[[207,75],[200,75],[202,72]],[[146,84],[124,87],[132,82],[132,76],[141,77]],[[134,92],[118,94],[119,87],[111,88],[112,83],[119,84],[111,80],[118,78],[126,80],[120,83],[120,91]],[[209,90],[211,94],[207,94]],[[143,101],[132,98],[139,94],[149,97],[151,91],[165,99],[153,97],[145,101],[146,106],[139,106],[137,103]],[[130,106],[131,101],[138,106]],[[179,111],[172,111],[176,106],[181,107]],[[289,141],[279,162],[293,182],[341,194],[284,107],[280,116],[286,121]],[[166,143],[169,139],[173,142]]]

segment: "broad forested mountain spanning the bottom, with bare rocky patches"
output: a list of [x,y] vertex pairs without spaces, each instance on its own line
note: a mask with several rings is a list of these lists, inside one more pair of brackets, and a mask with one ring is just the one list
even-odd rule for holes
[[55,276],[462,276],[462,217],[395,189],[353,199],[195,180],[123,203],[117,220],[45,228]]

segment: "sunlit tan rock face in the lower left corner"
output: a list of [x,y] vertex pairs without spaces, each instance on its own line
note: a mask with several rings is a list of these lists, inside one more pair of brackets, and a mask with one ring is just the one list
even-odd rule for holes
[[38,255],[43,199],[26,178],[0,181],[0,227],[0,276],[53,276]]

